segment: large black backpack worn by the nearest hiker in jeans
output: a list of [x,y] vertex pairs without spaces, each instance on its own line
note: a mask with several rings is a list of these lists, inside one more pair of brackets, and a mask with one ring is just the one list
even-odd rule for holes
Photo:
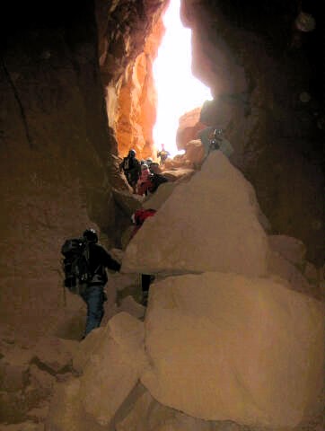
[[86,238],[66,240],[61,247],[65,286],[73,294],[80,295],[92,279],[89,268],[89,242]]

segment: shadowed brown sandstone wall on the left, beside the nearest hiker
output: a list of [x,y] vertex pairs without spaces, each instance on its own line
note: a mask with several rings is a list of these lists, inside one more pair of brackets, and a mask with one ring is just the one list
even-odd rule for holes
[[30,337],[65,312],[61,243],[114,219],[94,5],[37,6],[4,8],[0,64],[0,320]]

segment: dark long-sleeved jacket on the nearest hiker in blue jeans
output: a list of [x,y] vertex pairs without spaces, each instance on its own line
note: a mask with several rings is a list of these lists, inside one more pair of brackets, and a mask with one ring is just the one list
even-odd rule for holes
[[89,267],[94,275],[90,285],[99,285],[107,282],[105,268],[119,271],[120,264],[100,244],[91,242],[89,244]]

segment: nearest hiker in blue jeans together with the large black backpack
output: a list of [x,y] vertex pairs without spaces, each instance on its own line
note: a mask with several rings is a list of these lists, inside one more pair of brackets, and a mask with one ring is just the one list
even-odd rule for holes
[[[78,247],[78,251],[73,250]],[[72,244],[72,245],[71,245]],[[67,250],[67,249],[70,250]],[[62,247],[66,280],[65,285],[72,290],[72,286],[79,285],[74,293],[79,294],[87,304],[87,320],[83,339],[95,328],[101,325],[104,315],[103,303],[107,300],[104,287],[108,281],[105,268],[119,271],[120,264],[112,259],[110,254],[98,244],[98,234],[94,229],[86,229],[83,238],[67,240]]]

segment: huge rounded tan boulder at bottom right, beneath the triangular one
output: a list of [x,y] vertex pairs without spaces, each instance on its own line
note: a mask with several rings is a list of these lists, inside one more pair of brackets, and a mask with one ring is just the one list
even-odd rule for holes
[[322,306],[279,282],[168,277],[151,287],[145,328],[151,368],[141,381],[167,406],[272,429],[297,426],[316,406]]

